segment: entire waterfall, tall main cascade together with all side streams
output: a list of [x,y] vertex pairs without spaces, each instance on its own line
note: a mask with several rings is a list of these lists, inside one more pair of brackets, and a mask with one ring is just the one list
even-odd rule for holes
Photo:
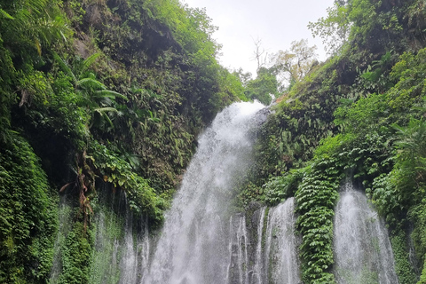
[[[162,231],[149,237],[146,218],[136,219],[126,194],[99,193],[93,284],[298,284],[295,199],[273,208],[250,204],[250,214],[231,209],[235,185],[252,162],[255,128],[266,112],[259,103],[236,103],[217,114],[165,215]],[[60,282],[61,243],[71,207],[64,199],[50,283]],[[334,273],[338,284],[398,283],[383,222],[363,193],[346,184],[335,208]]]

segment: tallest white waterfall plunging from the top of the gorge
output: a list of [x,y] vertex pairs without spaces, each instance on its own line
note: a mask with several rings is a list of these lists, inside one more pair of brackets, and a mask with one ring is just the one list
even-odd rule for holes
[[228,106],[201,135],[199,148],[165,215],[142,283],[226,283],[230,257],[227,211],[233,185],[246,175],[251,162],[250,130],[263,107],[260,103]]

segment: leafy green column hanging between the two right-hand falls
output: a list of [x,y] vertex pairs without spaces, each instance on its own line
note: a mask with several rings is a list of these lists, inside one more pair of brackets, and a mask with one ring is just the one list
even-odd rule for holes
[[296,191],[297,230],[304,283],[335,283],[333,264],[333,217],[341,176],[333,160],[313,162]]

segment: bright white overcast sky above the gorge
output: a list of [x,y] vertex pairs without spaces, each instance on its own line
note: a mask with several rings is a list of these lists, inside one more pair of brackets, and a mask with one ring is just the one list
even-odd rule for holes
[[206,8],[219,30],[214,37],[223,44],[220,63],[229,69],[242,67],[256,77],[254,41],[260,39],[268,53],[290,48],[295,40],[307,38],[317,45],[319,60],[326,59],[320,38],[307,28],[310,21],[327,15],[334,0],[181,0],[190,7]]

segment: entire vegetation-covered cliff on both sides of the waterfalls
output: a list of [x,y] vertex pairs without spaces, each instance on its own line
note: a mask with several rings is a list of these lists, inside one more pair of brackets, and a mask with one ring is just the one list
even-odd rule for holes
[[330,59],[296,70],[283,52],[244,80],[217,63],[205,11],[176,0],[0,1],[0,282],[48,282],[63,194],[58,282],[90,282],[99,193],[161,225],[202,128],[275,93],[237,207],[295,196],[304,282],[333,283],[349,177],[386,218],[399,282],[426,283],[426,4],[335,1],[310,26]]

